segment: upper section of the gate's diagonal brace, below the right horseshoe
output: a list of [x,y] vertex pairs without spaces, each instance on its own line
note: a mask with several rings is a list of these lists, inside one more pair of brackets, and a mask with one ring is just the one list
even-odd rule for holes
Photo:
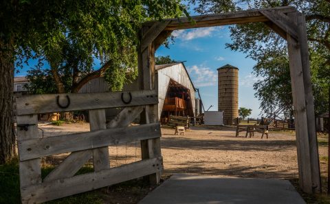
[[120,113],[107,123],[107,128],[126,127],[140,115],[143,106],[125,107]]

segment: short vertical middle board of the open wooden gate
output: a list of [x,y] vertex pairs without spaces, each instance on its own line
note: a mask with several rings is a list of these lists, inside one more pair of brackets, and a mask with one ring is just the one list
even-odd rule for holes
[[[91,131],[99,129],[107,129],[107,121],[105,120],[105,110],[90,110],[89,125]],[[93,166],[95,171],[110,168],[109,164],[109,148],[104,146],[93,150]]]

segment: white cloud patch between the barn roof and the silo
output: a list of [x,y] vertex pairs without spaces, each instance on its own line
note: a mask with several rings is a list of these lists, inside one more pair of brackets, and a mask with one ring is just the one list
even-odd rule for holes
[[214,86],[217,84],[217,72],[203,65],[192,65],[187,68],[196,87]]

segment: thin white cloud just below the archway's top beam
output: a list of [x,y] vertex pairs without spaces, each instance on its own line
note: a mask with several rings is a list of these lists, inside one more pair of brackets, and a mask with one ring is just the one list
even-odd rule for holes
[[172,35],[181,40],[192,40],[195,38],[204,38],[208,36],[213,36],[214,31],[217,30],[219,30],[219,27],[201,27],[201,28],[189,29],[189,30],[180,29],[173,31]]

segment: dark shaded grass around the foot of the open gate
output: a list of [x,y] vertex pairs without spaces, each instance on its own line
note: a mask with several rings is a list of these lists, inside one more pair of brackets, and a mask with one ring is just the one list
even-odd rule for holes
[[[44,179],[54,166],[43,164],[41,168],[41,177]],[[94,168],[87,164],[80,168],[76,175],[91,173]],[[21,194],[19,188],[19,159],[15,158],[7,164],[0,165],[0,203],[21,203]],[[84,192],[73,196],[67,196],[63,199],[48,201],[46,203],[137,203],[155,186],[150,186],[144,179],[134,179],[113,186],[100,188],[98,190]]]

